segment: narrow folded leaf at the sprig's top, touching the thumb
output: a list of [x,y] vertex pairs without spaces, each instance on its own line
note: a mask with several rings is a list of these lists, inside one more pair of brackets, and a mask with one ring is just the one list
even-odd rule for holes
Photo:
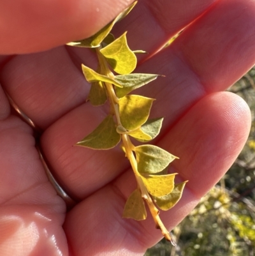
[[75,47],[89,47],[89,48],[99,47],[101,42],[105,40],[106,36],[108,36],[110,31],[112,30],[112,27],[114,26],[114,24],[119,20],[123,19],[124,17],[126,17],[126,15],[128,15],[129,11],[133,9],[136,3],[137,1],[131,4],[131,6],[126,8],[124,11],[122,11],[114,20],[112,20],[112,22],[108,23],[105,27],[100,29],[98,33],[94,34],[89,38],[85,38],[83,40],[67,43],[67,45],[75,46]]

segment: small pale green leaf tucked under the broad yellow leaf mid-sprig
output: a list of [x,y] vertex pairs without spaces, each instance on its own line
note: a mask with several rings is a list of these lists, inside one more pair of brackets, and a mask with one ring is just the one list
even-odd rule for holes
[[157,135],[160,132],[161,126],[163,122],[163,117],[161,118],[154,118],[154,119],[148,119],[142,126],[141,130],[143,133],[146,133],[151,137],[151,139],[138,139],[141,142],[148,142],[154,138],[157,137]]

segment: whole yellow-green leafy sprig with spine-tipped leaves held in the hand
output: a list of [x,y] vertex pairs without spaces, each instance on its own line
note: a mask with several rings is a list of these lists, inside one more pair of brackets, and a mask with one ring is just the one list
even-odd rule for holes
[[126,32],[117,39],[110,34],[113,25],[128,15],[135,4],[136,2],[122,11],[91,38],[68,43],[75,47],[96,49],[98,69],[94,71],[82,64],[85,79],[91,83],[89,100],[94,106],[110,103],[108,116],[77,145],[91,149],[111,149],[122,142],[121,147],[131,163],[137,182],[137,188],[129,196],[122,216],[145,220],[146,202],[156,227],[175,245],[159,218],[157,207],[166,211],[175,206],[182,197],[186,181],[175,184],[176,173],[167,172],[168,165],[177,157],[154,145],[135,146],[130,138],[133,137],[139,142],[149,142],[161,130],[163,117],[149,119],[154,99],[129,94],[157,79],[159,75],[131,73],[136,68],[135,54],[143,51],[129,49]]

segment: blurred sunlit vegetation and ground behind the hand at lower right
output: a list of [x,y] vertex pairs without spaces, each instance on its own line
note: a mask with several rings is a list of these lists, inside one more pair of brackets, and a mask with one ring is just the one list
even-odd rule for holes
[[251,132],[242,153],[172,230],[177,247],[163,239],[145,256],[255,256],[255,67],[228,91],[244,98],[252,112]]

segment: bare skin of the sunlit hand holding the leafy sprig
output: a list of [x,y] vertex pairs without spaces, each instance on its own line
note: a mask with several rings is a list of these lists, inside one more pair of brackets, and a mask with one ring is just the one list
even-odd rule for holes
[[[2,256],[143,255],[161,239],[148,214],[122,219],[136,187],[119,147],[73,146],[108,111],[85,102],[80,70],[96,67],[90,50],[62,46],[96,33],[132,1],[13,0],[0,3],[0,254]],[[193,22],[191,24],[191,22]],[[230,168],[251,125],[246,103],[223,92],[255,63],[254,0],[140,0],[113,34],[146,50],[136,73],[166,75],[137,90],[164,116],[154,143],[180,157],[170,171],[189,182],[161,218],[171,230]],[[167,49],[156,52],[180,29]],[[153,56],[152,56],[153,55]],[[4,94],[43,130],[40,143],[55,176],[79,203],[66,206],[49,183],[31,128]]]

